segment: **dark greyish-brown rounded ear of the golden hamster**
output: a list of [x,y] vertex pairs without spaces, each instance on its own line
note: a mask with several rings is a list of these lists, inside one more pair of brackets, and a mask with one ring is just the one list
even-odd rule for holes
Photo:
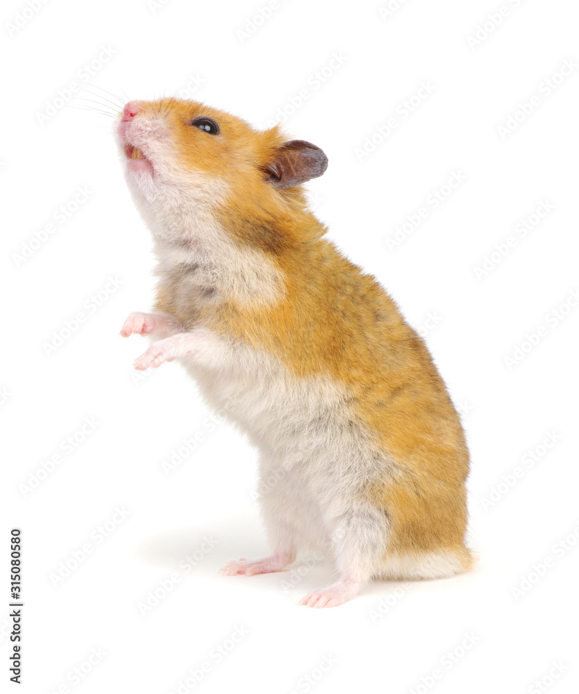
[[274,149],[274,158],[263,170],[277,188],[300,185],[326,171],[328,158],[319,147],[303,139],[292,139]]

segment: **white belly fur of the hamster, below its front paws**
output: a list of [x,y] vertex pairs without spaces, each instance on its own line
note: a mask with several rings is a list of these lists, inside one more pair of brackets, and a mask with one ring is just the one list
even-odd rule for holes
[[203,356],[182,362],[208,404],[260,450],[270,541],[327,552],[341,525],[351,533],[353,516],[362,514],[364,521],[375,516],[365,525],[385,550],[387,517],[370,508],[363,490],[392,474],[393,465],[356,421],[346,388],[330,378],[296,378],[271,355],[201,332]]

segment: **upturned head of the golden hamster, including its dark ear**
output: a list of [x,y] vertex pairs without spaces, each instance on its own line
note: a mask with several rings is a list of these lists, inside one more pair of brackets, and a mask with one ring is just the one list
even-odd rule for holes
[[[321,176],[319,147],[287,141],[278,127],[255,130],[196,101],[130,101],[117,141],[137,205],[183,214],[248,203],[271,208],[301,200],[296,186]],[[143,212],[145,210],[142,210]]]

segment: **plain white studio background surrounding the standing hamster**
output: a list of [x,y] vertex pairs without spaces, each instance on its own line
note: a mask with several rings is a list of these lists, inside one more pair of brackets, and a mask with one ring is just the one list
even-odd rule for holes
[[[577,691],[573,0],[31,6],[4,3],[1,29],[1,686],[16,687],[8,537],[22,527],[18,691]],[[405,110],[423,82],[431,93]],[[291,137],[326,151],[312,207],[422,329],[463,414],[472,573],[376,583],[324,610],[296,606],[333,579],[324,561],[217,574],[268,550],[256,454],[210,420],[180,366],[135,381],[146,342],[118,332],[128,312],[151,307],[149,232],[113,119],[92,110],[124,101],[121,90],[185,95],[260,128],[277,115]],[[380,135],[391,117],[397,127]],[[453,173],[464,180],[443,188]],[[88,190],[81,203],[78,188]],[[435,207],[437,191],[449,194]],[[532,226],[540,205],[551,209]],[[426,217],[413,226],[419,208]],[[67,339],[47,354],[55,333]],[[98,424],[79,433],[85,418]],[[166,473],[162,462],[195,436]],[[184,570],[187,555],[199,561]]]

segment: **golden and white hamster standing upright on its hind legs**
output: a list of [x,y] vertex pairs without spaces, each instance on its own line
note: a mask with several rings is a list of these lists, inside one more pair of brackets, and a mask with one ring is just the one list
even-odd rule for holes
[[423,340],[310,212],[319,147],[196,101],[130,101],[117,140],[153,235],[156,304],[135,369],[178,359],[207,403],[260,452],[271,545],[226,575],[282,571],[300,548],[337,580],[300,604],[333,607],[371,579],[469,570],[469,452]]

